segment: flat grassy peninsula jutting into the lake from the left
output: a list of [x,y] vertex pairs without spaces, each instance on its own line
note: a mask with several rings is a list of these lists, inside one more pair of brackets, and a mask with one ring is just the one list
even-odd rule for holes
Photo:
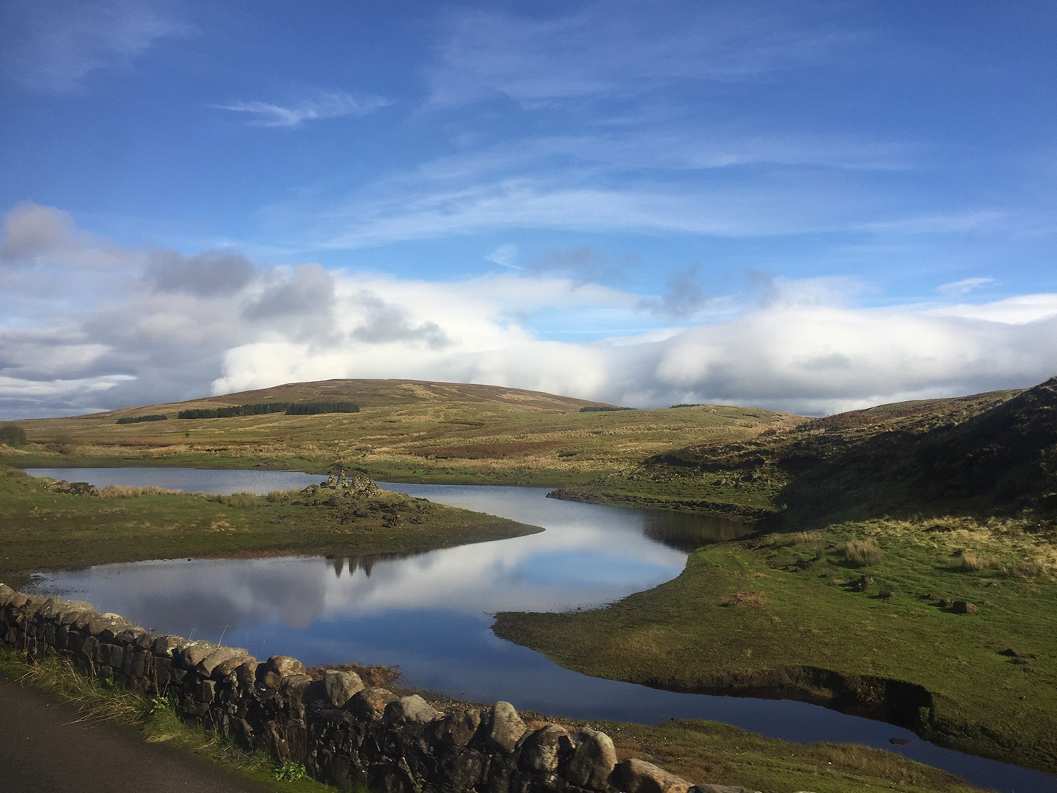
[[159,558],[413,554],[542,531],[373,488],[266,496],[93,491],[0,467],[0,578],[19,586],[43,570]]

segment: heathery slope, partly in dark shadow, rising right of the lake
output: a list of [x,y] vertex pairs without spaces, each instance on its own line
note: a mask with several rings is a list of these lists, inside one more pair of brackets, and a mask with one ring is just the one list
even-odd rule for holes
[[[1054,381],[1026,391],[880,405],[733,443],[654,455],[569,497],[845,518],[1043,509]],[[696,503],[697,502],[697,503]],[[715,510],[713,510],[715,511]],[[982,514],[982,513],[981,513]]]

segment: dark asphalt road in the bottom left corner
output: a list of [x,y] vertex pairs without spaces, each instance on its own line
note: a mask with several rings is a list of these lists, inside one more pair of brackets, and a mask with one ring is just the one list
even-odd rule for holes
[[4,793],[264,793],[267,788],[113,724],[76,723],[76,708],[0,676]]

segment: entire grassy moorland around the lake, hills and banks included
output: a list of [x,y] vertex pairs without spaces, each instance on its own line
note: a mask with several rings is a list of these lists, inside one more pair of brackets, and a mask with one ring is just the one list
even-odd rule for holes
[[[175,418],[187,409],[328,400],[352,401],[359,412]],[[740,517],[755,534],[694,552],[682,575],[653,590],[597,610],[499,614],[495,630],[591,675],[805,699],[963,751],[1057,770],[1057,384],[826,419],[720,405],[608,407],[490,386],[328,381],[18,422],[26,443],[0,446],[0,462],[358,471],[391,481],[542,485],[576,500]],[[117,424],[144,416],[166,419]],[[290,553],[302,552],[303,540],[303,552],[324,552],[350,537],[358,553],[401,551],[409,548],[404,530],[420,525],[405,517],[384,527],[379,508],[373,531],[352,531],[340,522],[349,510],[279,494],[244,506],[204,496],[190,504],[173,494],[87,499],[30,494],[34,481],[15,471],[0,479],[12,493],[26,490],[0,516],[8,575],[157,556],[156,536],[182,533],[166,540],[173,551],[203,541],[214,555]],[[71,500],[60,506],[60,497]],[[92,520],[124,527],[111,540],[91,538],[88,513],[69,505],[89,501]],[[126,513],[108,512],[117,506]],[[328,510],[331,534],[312,534],[315,515]],[[395,512],[409,514],[407,506]],[[218,520],[241,531],[217,531]],[[413,547],[531,531],[467,527],[438,529]],[[151,541],[141,542],[149,532]],[[256,545],[236,539],[255,535]],[[711,762],[717,780],[729,778],[722,768],[733,769],[738,743],[749,741],[739,734],[724,743],[716,737],[722,731],[700,724],[665,729],[684,732],[642,738],[650,756],[682,746],[669,753],[672,768]],[[703,741],[709,753],[702,754]],[[766,745],[756,772],[741,768],[750,774],[742,783],[768,789],[785,778],[780,758],[795,755],[796,744]],[[897,771],[880,773],[874,763],[845,787],[816,772],[811,785],[796,783],[943,789],[935,779],[917,787],[900,764],[906,761],[891,762]]]

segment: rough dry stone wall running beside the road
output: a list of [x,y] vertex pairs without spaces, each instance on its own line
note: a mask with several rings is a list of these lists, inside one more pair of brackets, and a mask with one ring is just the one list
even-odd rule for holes
[[530,729],[508,702],[492,707],[398,697],[354,671],[313,680],[300,661],[156,635],[82,601],[0,584],[0,641],[30,658],[68,659],[81,674],[169,697],[204,723],[277,762],[304,764],[339,788],[378,793],[752,793],[697,785],[637,759],[617,761],[605,733]]

